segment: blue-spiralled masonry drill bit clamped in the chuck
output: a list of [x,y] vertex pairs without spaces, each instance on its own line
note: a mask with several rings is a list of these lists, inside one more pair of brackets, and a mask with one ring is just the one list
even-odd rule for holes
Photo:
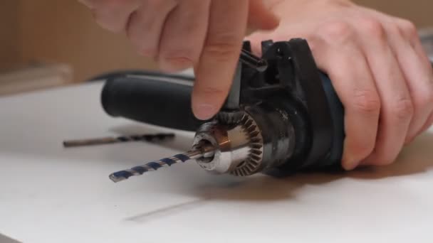
[[147,171],[157,171],[157,169],[161,167],[172,166],[172,164],[174,163],[184,163],[189,160],[197,158],[210,158],[212,156],[214,156],[214,147],[206,146],[203,148],[196,148],[185,153],[179,153],[169,158],[162,158],[159,161],[152,161],[142,166],[135,166],[128,170],[118,171],[110,174],[109,177],[111,180],[113,180],[113,182],[117,183],[121,180],[126,180],[127,178],[130,178],[134,175],[142,175]]

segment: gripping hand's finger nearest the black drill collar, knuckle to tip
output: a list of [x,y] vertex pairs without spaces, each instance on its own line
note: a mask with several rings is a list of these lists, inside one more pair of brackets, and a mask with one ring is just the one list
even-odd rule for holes
[[375,147],[380,115],[380,97],[367,65],[355,44],[353,28],[345,23],[330,23],[318,36],[313,55],[318,67],[328,73],[345,109],[345,142],[342,166],[351,170]]

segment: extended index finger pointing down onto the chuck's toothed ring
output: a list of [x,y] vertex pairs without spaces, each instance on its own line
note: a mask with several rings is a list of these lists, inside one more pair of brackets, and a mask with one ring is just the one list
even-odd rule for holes
[[198,119],[213,117],[229,92],[246,32],[247,14],[247,0],[212,1],[192,92],[192,110]]

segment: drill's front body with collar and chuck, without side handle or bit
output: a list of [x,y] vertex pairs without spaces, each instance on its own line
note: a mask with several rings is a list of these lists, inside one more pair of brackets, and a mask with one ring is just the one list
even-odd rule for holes
[[[251,51],[249,43],[244,50]],[[234,175],[338,168],[343,107],[328,77],[315,66],[308,43],[265,41],[262,53],[268,68],[257,72],[239,63],[239,75],[214,124],[198,130],[194,146],[207,141],[219,148],[214,161],[207,158],[199,164]],[[233,129],[243,134],[242,142],[231,134]],[[224,151],[236,156],[225,158]]]

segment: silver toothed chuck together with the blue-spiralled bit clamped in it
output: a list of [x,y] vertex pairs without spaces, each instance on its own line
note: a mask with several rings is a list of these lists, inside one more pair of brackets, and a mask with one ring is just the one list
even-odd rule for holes
[[[256,173],[266,166],[262,163],[264,142],[261,131],[249,114],[245,113],[239,121],[236,120],[222,116],[219,120],[202,124],[194,136],[190,151],[118,171],[110,174],[109,178],[118,182],[193,159],[209,173],[239,176]],[[231,124],[231,121],[236,122]]]

